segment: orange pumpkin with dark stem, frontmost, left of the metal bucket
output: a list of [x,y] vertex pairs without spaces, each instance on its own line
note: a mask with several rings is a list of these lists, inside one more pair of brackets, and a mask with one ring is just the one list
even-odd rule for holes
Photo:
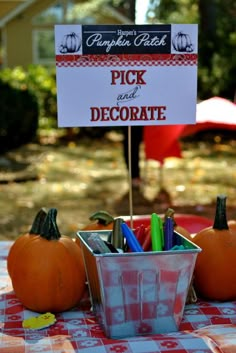
[[45,218],[40,236],[19,249],[11,269],[17,298],[36,312],[62,312],[76,306],[85,291],[85,266],[81,249],[61,235],[57,210]]

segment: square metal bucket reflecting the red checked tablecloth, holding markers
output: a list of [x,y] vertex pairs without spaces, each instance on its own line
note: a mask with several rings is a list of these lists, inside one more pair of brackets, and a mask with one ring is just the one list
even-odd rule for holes
[[[179,233],[185,249],[94,254],[78,232],[93,311],[107,337],[178,331],[201,249]],[[110,231],[98,231],[107,239]]]

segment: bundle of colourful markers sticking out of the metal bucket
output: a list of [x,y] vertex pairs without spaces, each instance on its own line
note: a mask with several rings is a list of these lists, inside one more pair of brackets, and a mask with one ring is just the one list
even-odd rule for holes
[[185,249],[182,237],[174,231],[173,218],[163,221],[156,213],[151,215],[150,226],[140,225],[134,230],[122,218],[116,218],[107,240],[92,231],[86,242],[96,254]]

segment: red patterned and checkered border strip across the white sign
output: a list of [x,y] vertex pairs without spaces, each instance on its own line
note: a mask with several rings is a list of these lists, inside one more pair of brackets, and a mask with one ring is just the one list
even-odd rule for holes
[[197,54],[56,55],[57,67],[196,66]]

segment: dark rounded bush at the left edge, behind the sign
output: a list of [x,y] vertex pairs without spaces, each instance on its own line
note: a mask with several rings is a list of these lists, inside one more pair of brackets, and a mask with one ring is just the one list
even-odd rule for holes
[[38,103],[26,87],[14,88],[1,79],[0,92],[0,153],[4,153],[36,137]]

